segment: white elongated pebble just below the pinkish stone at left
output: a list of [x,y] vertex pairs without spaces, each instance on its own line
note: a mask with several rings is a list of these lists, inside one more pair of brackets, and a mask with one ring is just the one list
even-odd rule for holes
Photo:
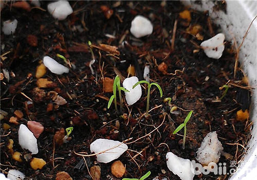
[[20,125],[19,144],[23,149],[29,150],[32,154],[38,154],[39,152],[35,136],[24,124]]

